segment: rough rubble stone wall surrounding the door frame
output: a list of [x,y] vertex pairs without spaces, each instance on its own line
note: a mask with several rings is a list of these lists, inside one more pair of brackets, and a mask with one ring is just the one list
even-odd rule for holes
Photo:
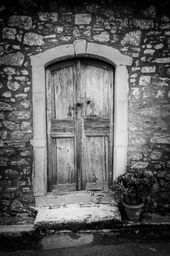
[[133,58],[128,68],[127,169],[150,169],[157,185],[148,207],[170,209],[170,4],[78,2],[18,0],[9,5],[1,1],[3,216],[27,216],[34,209],[30,56],[77,39],[111,46]]

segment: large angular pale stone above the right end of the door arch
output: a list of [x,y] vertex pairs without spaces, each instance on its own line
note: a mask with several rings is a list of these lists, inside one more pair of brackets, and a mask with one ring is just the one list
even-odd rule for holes
[[142,32],[140,30],[132,31],[121,41],[121,44],[124,46],[125,44],[133,44],[135,46],[140,45]]

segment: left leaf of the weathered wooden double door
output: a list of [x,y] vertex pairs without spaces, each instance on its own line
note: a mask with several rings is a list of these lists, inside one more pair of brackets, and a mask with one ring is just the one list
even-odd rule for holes
[[[67,61],[46,70],[48,191],[77,189],[76,63]],[[63,186],[60,186],[60,185]]]

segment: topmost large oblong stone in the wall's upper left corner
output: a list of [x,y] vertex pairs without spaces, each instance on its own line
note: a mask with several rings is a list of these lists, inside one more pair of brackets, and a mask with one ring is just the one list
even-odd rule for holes
[[32,19],[29,16],[13,15],[9,18],[8,25],[18,29],[29,30],[32,28]]

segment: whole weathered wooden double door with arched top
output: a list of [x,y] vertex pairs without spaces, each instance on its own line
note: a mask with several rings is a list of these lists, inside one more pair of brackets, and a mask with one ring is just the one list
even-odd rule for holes
[[48,190],[95,190],[113,179],[113,68],[91,59],[46,70]]

